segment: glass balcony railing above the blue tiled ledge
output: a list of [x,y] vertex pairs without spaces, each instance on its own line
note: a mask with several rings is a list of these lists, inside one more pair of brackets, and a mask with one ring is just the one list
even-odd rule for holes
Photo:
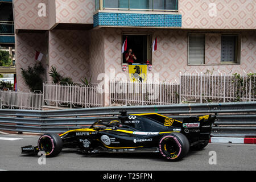
[[179,0],[96,0],[96,10],[178,11]]

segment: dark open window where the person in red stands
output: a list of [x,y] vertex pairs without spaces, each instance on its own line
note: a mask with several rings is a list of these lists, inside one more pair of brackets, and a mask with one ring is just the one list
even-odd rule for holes
[[132,54],[136,57],[133,64],[146,64],[147,60],[151,64],[151,36],[148,34],[123,34],[122,43],[125,42],[127,38],[127,50],[122,53],[123,64],[127,64],[126,56],[129,50],[132,50]]

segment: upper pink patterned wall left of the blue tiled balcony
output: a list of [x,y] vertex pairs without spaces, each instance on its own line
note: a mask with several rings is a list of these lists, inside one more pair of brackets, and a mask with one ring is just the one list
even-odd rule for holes
[[[38,16],[39,3],[46,16]],[[56,23],[93,23],[94,0],[14,0],[15,29],[49,30]]]

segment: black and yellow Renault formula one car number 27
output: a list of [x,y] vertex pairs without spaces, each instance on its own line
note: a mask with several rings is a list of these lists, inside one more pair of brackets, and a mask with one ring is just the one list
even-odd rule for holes
[[44,151],[53,157],[62,148],[78,148],[85,154],[100,152],[160,152],[171,161],[182,159],[189,148],[201,150],[207,146],[216,115],[184,118],[183,122],[158,113],[126,114],[117,120],[97,121],[85,129],[64,134],[44,134],[38,146],[22,147],[22,154]]

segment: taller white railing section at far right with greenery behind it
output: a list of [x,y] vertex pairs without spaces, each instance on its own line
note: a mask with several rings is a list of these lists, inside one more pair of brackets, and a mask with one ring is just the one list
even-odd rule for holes
[[255,76],[185,73],[180,82],[180,103],[256,101]]

